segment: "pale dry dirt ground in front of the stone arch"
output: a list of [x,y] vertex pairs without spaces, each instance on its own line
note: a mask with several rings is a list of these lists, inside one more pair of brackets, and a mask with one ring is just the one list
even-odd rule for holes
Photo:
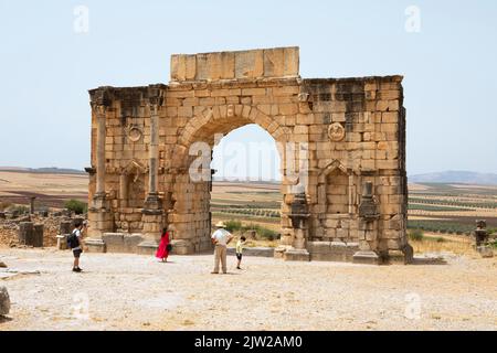
[[497,259],[363,266],[246,257],[211,275],[211,255],[0,249],[10,315],[0,330],[496,330]]

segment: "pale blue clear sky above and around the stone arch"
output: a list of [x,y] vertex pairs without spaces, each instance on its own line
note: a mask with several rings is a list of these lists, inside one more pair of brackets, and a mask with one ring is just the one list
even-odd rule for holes
[[172,53],[298,45],[304,78],[405,76],[410,174],[497,172],[496,23],[493,0],[0,0],[0,165],[88,165],[87,89],[167,83]]

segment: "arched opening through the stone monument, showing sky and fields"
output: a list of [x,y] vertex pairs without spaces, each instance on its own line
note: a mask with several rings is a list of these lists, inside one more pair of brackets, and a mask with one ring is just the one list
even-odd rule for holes
[[251,245],[276,246],[281,237],[281,157],[276,141],[255,124],[225,135],[214,147],[210,212]]

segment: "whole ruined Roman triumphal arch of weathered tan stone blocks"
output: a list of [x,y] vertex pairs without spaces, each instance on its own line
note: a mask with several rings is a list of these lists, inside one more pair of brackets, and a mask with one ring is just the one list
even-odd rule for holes
[[256,124],[277,142],[286,260],[410,261],[401,76],[299,76],[298,47],[172,55],[168,85],[89,90],[91,252],[212,249],[211,148]]

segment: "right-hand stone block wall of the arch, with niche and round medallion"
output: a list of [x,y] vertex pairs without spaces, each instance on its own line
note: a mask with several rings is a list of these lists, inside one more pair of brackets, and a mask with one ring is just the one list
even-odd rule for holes
[[[368,243],[380,252],[405,245],[405,115],[402,77],[304,79],[309,113],[311,238]],[[304,127],[305,129],[305,127]],[[359,217],[362,185],[372,182],[378,236]],[[348,210],[347,212],[345,212]]]

